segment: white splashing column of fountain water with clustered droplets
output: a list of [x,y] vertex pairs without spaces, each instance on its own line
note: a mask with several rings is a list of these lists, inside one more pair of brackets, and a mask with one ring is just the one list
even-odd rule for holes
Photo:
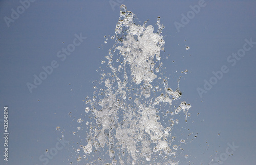
[[[83,157],[90,157],[90,163],[95,164],[178,164],[175,155],[185,140],[174,144],[172,129],[179,122],[187,122],[191,106],[186,102],[179,102],[178,108],[172,106],[181,98],[181,91],[179,80],[177,83],[161,71],[160,53],[165,42],[160,17],[156,33],[153,26],[146,26],[147,21],[137,25],[135,19],[135,14],[121,5],[116,44],[101,62],[104,69],[96,81],[97,90],[86,101],[86,115],[91,113],[95,120],[86,124],[90,127],[82,145]],[[185,116],[179,121],[174,117],[181,111]],[[99,152],[104,155],[97,155]]]

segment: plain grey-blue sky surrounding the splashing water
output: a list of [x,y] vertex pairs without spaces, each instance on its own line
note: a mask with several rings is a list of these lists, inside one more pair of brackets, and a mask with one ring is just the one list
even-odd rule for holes
[[[116,6],[110,2],[116,2]],[[121,4],[135,13],[141,24],[150,19],[147,25],[155,29],[157,17],[161,17],[165,26],[165,52],[161,52],[161,57],[171,75],[169,83],[175,86],[177,78],[183,76],[181,101],[192,107],[188,123],[180,120],[173,130],[173,134],[187,139],[182,146],[185,151],[176,160],[180,164],[208,164],[226,152],[227,143],[234,143],[239,148],[223,164],[255,164],[256,44],[234,66],[227,62],[227,57],[243,49],[245,39],[256,41],[256,1],[205,1],[206,6],[178,32],[175,21],[181,23],[181,14],[186,15],[191,10],[189,6],[198,2],[35,1],[8,27],[4,17],[11,18],[11,9],[16,11],[21,4],[0,1],[0,119],[4,118],[7,105],[10,133],[8,162],[2,156],[4,138],[0,138],[0,164],[42,164],[39,156],[53,148],[58,142],[56,138],[62,135],[69,144],[48,164],[77,163],[77,156],[83,155],[75,152],[77,143],[86,145],[88,133],[82,100],[93,95],[92,81],[100,79],[96,69],[103,67],[100,62],[114,44],[111,39],[105,44],[103,36],[115,35]],[[57,52],[67,48],[75,34],[80,33],[87,38],[61,61]],[[190,49],[186,50],[186,46]],[[30,93],[26,84],[33,83],[33,75],[38,76],[42,66],[53,60],[59,66]],[[200,98],[197,88],[203,88],[204,80],[209,81],[214,76],[212,72],[223,65],[229,72]],[[188,74],[181,74],[185,69]],[[80,117],[84,121],[78,124]],[[84,129],[77,131],[77,126]],[[3,120],[0,127],[2,137]],[[77,134],[73,135],[73,131]],[[197,138],[186,137],[188,132],[193,133],[192,137],[198,133]],[[185,154],[189,155],[187,159]],[[80,164],[86,162],[82,160]]]

